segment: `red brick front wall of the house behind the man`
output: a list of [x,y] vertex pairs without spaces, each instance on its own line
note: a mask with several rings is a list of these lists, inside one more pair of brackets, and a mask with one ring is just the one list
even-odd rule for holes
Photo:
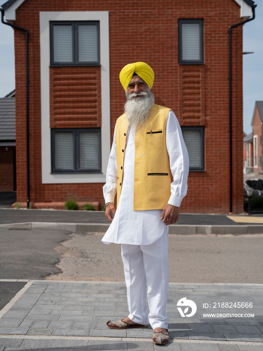
[[[111,136],[122,114],[125,94],[119,83],[121,68],[145,61],[155,72],[156,103],[172,108],[181,125],[205,125],[205,171],[190,172],[188,195],[181,211],[229,212],[228,28],[240,22],[240,8],[232,0],[149,1],[26,0],[17,10],[16,24],[30,33],[31,200],[59,201],[74,193],[103,201],[103,184],[41,183],[40,11],[109,11]],[[178,65],[178,18],[204,19],[205,65]],[[15,30],[18,201],[26,200],[26,86],[25,36]],[[233,29],[233,212],[242,211],[242,27]],[[182,74],[198,74],[199,117],[183,115]],[[187,73],[188,72],[188,73]],[[184,81],[187,83],[187,80]]]

